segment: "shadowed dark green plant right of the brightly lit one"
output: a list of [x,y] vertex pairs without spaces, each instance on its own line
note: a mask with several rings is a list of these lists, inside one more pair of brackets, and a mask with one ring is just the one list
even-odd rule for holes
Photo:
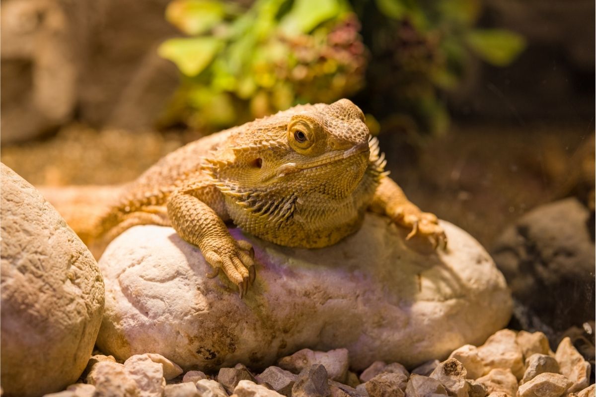
[[356,99],[381,119],[383,130],[414,139],[445,132],[443,93],[457,88],[472,58],[506,66],[525,47],[516,33],[475,27],[480,0],[353,2],[371,51],[367,88]]

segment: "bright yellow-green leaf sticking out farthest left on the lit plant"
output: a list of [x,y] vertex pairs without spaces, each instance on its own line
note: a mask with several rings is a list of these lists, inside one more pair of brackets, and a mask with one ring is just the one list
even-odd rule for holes
[[213,37],[169,39],[159,46],[157,54],[174,62],[186,76],[193,77],[210,64],[221,45],[221,40]]

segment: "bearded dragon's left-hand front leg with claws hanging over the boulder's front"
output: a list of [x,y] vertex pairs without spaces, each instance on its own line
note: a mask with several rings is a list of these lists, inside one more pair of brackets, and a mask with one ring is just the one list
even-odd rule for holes
[[242,298],[249,283],[254,282],[254,251],[249,242],[237,241],[229,234],[222,220],[227,217],[223,198],[218,199],[218,194],[221,193],[209,186],[178,190],[167,201],[167,215],[178,235],[198,246],[205,260],[213,266],[215,271],[207,277],[215,277],[219,269],[223,269],[228,279],[238,286]]

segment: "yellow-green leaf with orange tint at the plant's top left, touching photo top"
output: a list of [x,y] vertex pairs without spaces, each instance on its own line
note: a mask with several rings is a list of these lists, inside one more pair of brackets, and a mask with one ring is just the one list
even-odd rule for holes
[[207,32],[224,15],[224,4],[217,0],[174,0],[166,8],[166,20],[191,36]]

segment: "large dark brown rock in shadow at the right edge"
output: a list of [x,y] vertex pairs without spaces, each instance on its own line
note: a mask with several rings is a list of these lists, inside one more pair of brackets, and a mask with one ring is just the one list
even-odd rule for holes
[[594,321],[590,224],[588,208],[567,198],[527,212],[494,243],[492,254],[516,300],[514,317],[522,329],[540,330],[552,341]]

